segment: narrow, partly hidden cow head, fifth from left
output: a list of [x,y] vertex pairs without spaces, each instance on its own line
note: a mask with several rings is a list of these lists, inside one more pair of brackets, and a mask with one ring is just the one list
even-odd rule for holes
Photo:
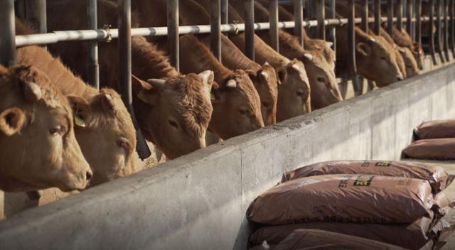
[[266,125],[277,122],[278,79],[274,68],[265,63],[258,71],[248,71],[261,101],[262,120]]

